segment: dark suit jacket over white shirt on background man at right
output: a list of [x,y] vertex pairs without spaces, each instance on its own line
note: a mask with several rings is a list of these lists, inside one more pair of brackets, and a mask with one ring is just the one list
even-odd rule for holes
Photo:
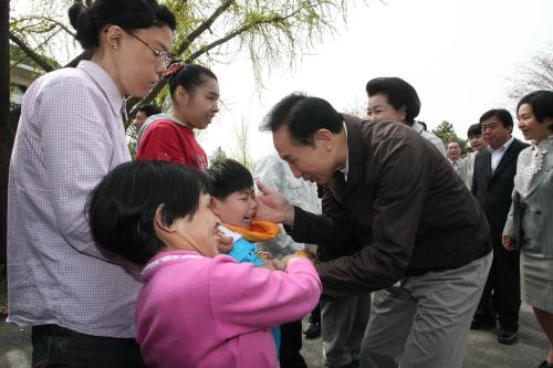
[[492,242],[501,246],[501,234],[511,208],[511,196],[517,174],[517,158],[529,145],[514,139],[491,172],[491,153],[483,149],[474,160],[472,193],[482,206],[491,229]]

